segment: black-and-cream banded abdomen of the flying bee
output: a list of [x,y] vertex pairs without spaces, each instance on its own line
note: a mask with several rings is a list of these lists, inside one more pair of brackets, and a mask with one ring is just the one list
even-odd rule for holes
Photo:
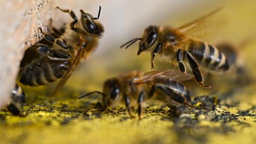
[[229,63],[225,55],[210,44],[192,40],[188,47],[199,65],[212,71],[226,71]]

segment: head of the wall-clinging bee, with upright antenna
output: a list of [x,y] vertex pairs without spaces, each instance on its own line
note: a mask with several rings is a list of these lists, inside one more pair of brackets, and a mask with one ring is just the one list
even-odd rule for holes
[[100,11],[101,11],[101,6],[100,6],[100,9],[99,9],[98,17],[93,18],[91,14],[85,13],[83,10],[80,10],[80,12],[81,12],[81,21],[82,21],[83,28],[88,33],[98,35],[99,37],[102,36],[102,33],[104,31],[103,26],[98,21],[98,19],[100,17]]

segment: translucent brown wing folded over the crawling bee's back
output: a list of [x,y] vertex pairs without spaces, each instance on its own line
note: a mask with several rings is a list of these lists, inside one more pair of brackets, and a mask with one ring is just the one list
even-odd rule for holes
[[150,71],[145,73],[140,78],[135,79],[133,84],[144,84],[149,82],[161,82],[166,79],[169,81],[187,81],[188,79],[193,78],[194,76],[188,73],[182,73],[177,70],[158,70]]

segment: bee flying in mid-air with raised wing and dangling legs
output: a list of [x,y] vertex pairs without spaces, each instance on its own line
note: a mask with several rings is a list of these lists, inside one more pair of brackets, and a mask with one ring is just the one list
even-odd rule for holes
[[228,60],[216,47],[189,37],[188,32],[219,10],[178,28],[148,26],[141,38],[134,38],[123,44],[121,48],[127,45],[127,49],[133,43],[140,41],[138,55],[142,51],[150,51],[151,68],[154,68],[154,58],[158,55],[162,60],[178,67],[183,73],[187,72],[186,68],[190,68],[188,70],[193,73],[196,82],[204,88],[210,88],[204,84],[204,77],[199,67],[212,72],[226,71],[229,69]]

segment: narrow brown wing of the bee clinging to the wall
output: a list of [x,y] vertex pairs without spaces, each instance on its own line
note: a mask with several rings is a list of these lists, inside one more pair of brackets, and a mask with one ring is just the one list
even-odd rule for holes
[[76,67],[78,66],[78,64],[80,63],[81,60],[81,56],[82,56],[82,48],[78,49],[78,52],[76,54],[76,57],[74,59],[74,61],[71,63],[71,66],[69,68],[69,70],[67,71],[67,73],[65,74],[65,76],[62,77],[61,81],[59,82],[59,84],[57,85],[57,87],[55,88],[55,90],[53,91],[51,98],[53,97],[53,95],[55,95],[60,88],[65,85],[65,83],[68,81],[68,78],[71,76],[71,74],[74,72],[74,70],[76,69]]

